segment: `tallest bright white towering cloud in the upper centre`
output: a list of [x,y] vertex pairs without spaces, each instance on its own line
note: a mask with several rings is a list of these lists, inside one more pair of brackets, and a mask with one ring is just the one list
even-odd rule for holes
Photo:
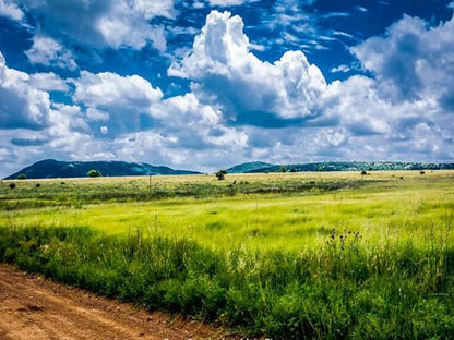
[[286,52],[268,63],[249,49],[241,17],[212,11],[192,52],[169,74],[192,80],[200,100],[222,106],[229,121],[261,113],[282,119],[316,114],[326,88],[319,68],[301,51]]

